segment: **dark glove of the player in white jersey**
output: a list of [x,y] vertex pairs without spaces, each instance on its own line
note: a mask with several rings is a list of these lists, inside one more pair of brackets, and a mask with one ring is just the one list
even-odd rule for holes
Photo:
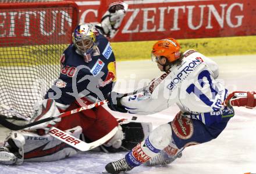
[[122,106],[122,104],[120,103],[120,100],[122,99],[122,97],[124,97],[124,94],[121,93],[117,93],[117,92],[111,92],[108,94],[107,96],[107,100],[108,100],[108,107],[112,110],[112,111],[118,111],[120,113],[127,113],[128,111],[125,109],[125,107]]

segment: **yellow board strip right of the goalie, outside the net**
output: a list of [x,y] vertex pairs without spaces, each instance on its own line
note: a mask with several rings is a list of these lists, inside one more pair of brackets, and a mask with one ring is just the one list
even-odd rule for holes
[[[187,49],[195,49],[205,56],[252,55],[256,53],[256,36],[178,39],[178,41],[183,52]],[[149,60],[155,42],[113,42],[111,45],[116,60]]]

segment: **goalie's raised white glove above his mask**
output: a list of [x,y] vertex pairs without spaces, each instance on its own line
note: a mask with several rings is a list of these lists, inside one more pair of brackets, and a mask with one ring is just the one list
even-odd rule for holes
[[115,37],[127,9],[128,5],[125,2],[111,3],[106,13],[102,16],[101,23],[95,25],[95,28],[106,38]]

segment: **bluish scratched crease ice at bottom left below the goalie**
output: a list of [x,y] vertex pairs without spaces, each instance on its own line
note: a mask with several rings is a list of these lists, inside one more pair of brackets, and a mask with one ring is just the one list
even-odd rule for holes
[[[5,166],[0,165],[1,173],[17,173],[17,174],[34,174],[34,173],[77,173],[77,174],[91,174],[102,173],[105,170],[105,165],[112,160],[119,160],[125,153],[119,154],[106,154],[106,153],[79,153],[76,157],[66,158],[54,162],[24,162],[23,165]],[[150,173],[151,170],[155,171],[156,168],[136,168],[130,173],[141,173],[146,169]],[[155,171],[157,172],[157,171]]]

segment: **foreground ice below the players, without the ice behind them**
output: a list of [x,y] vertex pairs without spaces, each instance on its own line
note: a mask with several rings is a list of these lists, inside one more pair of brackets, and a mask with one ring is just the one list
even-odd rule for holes
[[[194,174],[228,173],[240,174],[256,171],[256,114],[236,109],[237,115],[230,120],[225,131],[205,144],[191,146],[183,151],[183,157],[166,166],[139,166],[128,173],[150,174]],[[167,112],[167,111],[166,111]],[[172,113],[173,111],[169,111]],[[143,116],[141,116],[143,117]],[[145,118],[138,117],[138,119]],[[154,115],[166,117],[166,114]],[[151,117],[153,119],[153,117]],[[160,122],[158,122],[161,124]],[[65,160],[53,162],[24,162],[20,166],[0,165],[1,173],[101,173],[108,162],[123,158],[126,153],[106,154],[93,151],[79,153]]]

